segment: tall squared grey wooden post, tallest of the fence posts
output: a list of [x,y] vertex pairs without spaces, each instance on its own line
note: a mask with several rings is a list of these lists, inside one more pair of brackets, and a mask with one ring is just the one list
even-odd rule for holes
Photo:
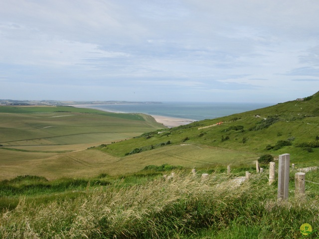
[[279,155],[278,165],[278,199],[288,199],[290,154]]

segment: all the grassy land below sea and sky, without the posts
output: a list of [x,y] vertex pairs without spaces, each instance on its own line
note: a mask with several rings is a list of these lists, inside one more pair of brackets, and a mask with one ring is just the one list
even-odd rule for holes
[[255,173],[262,154],[318,166],[318,106],[317,93],[171,129],[139,114],[0,107],[0,238],[290,239],[304,223],[318,238],[319,170],[295,197],[292,169],[287,201],[267,165]]

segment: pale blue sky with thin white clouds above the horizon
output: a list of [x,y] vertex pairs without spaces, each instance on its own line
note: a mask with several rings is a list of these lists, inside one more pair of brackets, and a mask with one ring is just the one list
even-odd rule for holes
[[0,0],[0,99],[311,96],[318,12],[318,0]]

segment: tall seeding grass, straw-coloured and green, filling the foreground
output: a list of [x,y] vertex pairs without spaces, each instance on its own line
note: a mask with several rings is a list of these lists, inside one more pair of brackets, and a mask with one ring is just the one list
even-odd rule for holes
[[241,185],[223,173],[206,181],[179,173],[168,181],[121,185],[49,204],[22,199],[0,215],[0,237],[276,239],[301,238],[304,223],[319,228],[318,197],[277,202],[266,175]]

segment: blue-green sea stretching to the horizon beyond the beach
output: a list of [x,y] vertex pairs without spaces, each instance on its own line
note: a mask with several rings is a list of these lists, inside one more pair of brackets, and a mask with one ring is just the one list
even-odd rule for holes
[[137,104],[86,105],[114,113],[143,113],[180,119],[214,119],[272,106],[274,103],[161,102]]

